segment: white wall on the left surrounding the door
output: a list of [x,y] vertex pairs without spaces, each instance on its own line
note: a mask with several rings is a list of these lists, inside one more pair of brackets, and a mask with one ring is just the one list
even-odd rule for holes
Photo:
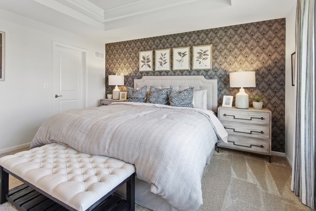
[[[52,114],[52,42],[87,50],[86,107],[98,106],[105,95],[105,44],[0,9],[5,34],[5,81],[0,81],[0,153],[29,146]],[[44,83],[48,89],[44,89]]]

